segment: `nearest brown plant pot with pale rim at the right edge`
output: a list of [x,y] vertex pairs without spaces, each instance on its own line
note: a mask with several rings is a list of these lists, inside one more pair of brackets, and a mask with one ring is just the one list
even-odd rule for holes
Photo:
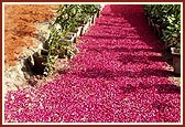
[[173,57],[173,67],[175,74],[181,74],[181,53],[179,49],[171,47]]

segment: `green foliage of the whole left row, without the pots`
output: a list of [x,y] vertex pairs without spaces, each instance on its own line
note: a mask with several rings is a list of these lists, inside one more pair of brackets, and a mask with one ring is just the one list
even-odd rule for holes
[[[46,62],[43,63],[46,65],[45,75],[53,73],[55,61],[58,57],[72,59],[77,53],[78,49],[72,42],[65,40],[65,38],[79,25],[79,22],[87,22],[99,9],[100,6],[98,4],[59,6],[56,20],[51,28],[51,33],[46,41],[48,54],[46,55]],[[59,25],[59,29],[56,25]]]

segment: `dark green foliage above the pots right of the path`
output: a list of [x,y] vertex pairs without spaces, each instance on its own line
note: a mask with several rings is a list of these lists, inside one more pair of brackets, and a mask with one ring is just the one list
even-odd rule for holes
[[168,46],[181,47],[181,6],[179,4],[144,4],[148,17],[162,27],[162,40]]

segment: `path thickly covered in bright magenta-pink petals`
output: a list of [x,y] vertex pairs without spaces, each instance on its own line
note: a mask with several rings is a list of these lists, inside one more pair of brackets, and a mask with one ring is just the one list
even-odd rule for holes
[[81,40],[70,72],[8,93],[7,123],[179,123],[179,87],[142,6],[106,6]]

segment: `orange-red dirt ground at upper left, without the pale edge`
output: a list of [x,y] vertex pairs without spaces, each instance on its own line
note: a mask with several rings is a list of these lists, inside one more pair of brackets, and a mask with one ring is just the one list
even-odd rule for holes
[[22,47],[33,45],[36,38],[35,23],[51,20],[58,6],[43,4],[6,4],[4,6],[4,64],[15,64]]

